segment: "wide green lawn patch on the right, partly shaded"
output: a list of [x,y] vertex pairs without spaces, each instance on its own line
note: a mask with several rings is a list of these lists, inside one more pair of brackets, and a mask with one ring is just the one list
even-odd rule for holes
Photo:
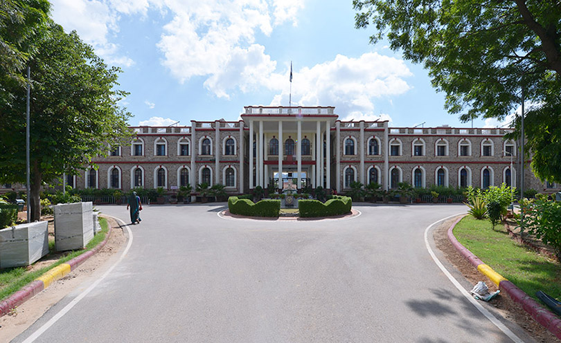
[[490,221],[466,216],[454,228],[454,236],[483,263],[531,297],[537,299],[536,291],[543,290],[561,299],[560,263],[520,245],[499,228],[501,225],[495,231]]

